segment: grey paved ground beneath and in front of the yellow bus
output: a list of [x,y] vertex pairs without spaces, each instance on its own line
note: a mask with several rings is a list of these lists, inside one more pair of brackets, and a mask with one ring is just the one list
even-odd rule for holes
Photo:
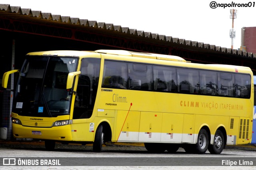
[[[103,152],[96,153],[92,152],[92,145],[63,145],[60,143],[56,144],[56,151],[49,152],[45,150],[43,141],[6,141],[0,140],[0,154],[2,156],[10,156],[10,157],[65,157],[69,158],[66,160],[68,163],[74,163],[74,158],[98,158],[98,157],[114,157],[114,158],[145,158],[148,161],[150,158],[154,158],[155,160],[159,160],[159,158],[178,158],[178,161],[184,161],[188,158],[193,158],[194,162],[200,162],[200,157],[209,157],[210,160],[214,160],[213,158],[218,159],[219,157],[227,158],[232,157],[235,160],[242,157],[255,157],[256,156],[256,146],[255,145],[239,145],[239,146],[227,146],[226,149],[222,152],[221,155],[214,155],[208,153],[206,154],[186,154],[184,149],[180,148],[177,154],[149,154],[146,152],[143,143],[107,143],[106,146],[103,147]],[[1,157],[1,156],[0,156]],[[73,158],[73,159],[72,159]],[[83,159],[85,160],[85,159]],[[196,161],[198,160],[198,161]],[[209,161],[209,160],[207,160]],[[170,160],[168,159],[168,162]],[[189,162],[189,161],[188,161]],[[89,170],[118,170],[118,169],[126,169],[126,170],[233,170],[233,169],[255,169],[255,165],[253,166],[5,166],[0,169],[12,170],[12,169],[21,169],[21,170],[59,170],[59,169],[89,169]]]

